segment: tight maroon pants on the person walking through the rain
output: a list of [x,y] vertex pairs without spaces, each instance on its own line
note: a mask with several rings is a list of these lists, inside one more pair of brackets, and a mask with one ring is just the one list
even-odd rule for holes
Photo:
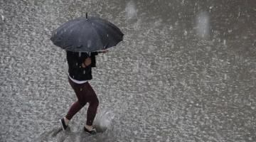
[[99,105],[99,100],[95,94],[95,91],[92,89],[88,82],[83,84],[77,84],[70,80],[68,77],[68,81],[70,82],[71,87],[74,89],[76,96],[78,97],[78,101],[75,102],[68,114],[65,116],[68,120],[72,119],[72,117],[85,106],[88,102],[89,107],[87,109],[87,121],[86,124],[88,126],[92,126],[93,120],[95,119],[97,107]]

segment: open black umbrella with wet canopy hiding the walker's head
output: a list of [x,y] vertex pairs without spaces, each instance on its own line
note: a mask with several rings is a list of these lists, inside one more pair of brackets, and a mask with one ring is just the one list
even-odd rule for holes
[[52,33],[50,40],[60,48],[77,52],[106,50],[123,40],[124,34],[110,21],[93,16],[67,21]]

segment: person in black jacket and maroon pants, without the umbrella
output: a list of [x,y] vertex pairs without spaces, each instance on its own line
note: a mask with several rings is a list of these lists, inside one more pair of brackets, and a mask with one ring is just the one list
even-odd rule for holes
[[84,126],[84,131],[89,134],[96,134],[97,131],[92,127],[93,121],[97,113],[97,107],[99,100],[95,91],[89,84],[89,80],[92,80],[92,67],[96,67],[95,56],[98,53],[107,53],[108,50],[101,50],[94,53],[82,53],[66,51],[68,60],[68,82],[75,91],[78,101],[75,102],[69,109],[68,114],[60,119],[60,124],[63,131],[68,128],[70,120],[75,114],[89,103],[87,109],[87,121]]

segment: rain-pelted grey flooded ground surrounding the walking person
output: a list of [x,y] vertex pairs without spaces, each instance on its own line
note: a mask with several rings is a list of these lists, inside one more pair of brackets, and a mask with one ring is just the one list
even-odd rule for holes
[[[256,141],[256,1],[0,1],[0,141]],[[95,126],[51,31],[99,16],[124,41],[97,57]]]

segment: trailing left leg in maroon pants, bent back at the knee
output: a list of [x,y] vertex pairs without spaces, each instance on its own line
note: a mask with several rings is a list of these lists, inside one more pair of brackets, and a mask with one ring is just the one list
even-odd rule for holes
[[65,124],[67,125],[70,119],[75,116],[82,107],[85,107],[86,101],[82,97],[84,96],[85,91],[83,90],[85,88],[85,84],[76,84],[70,78],[68,77],[68,81],[70,82],[71,87],[74,89],[76,96],[78,97],[78,101],[75,102],[71,107],[70,110],[68,111],[68,114],[65,116]]

